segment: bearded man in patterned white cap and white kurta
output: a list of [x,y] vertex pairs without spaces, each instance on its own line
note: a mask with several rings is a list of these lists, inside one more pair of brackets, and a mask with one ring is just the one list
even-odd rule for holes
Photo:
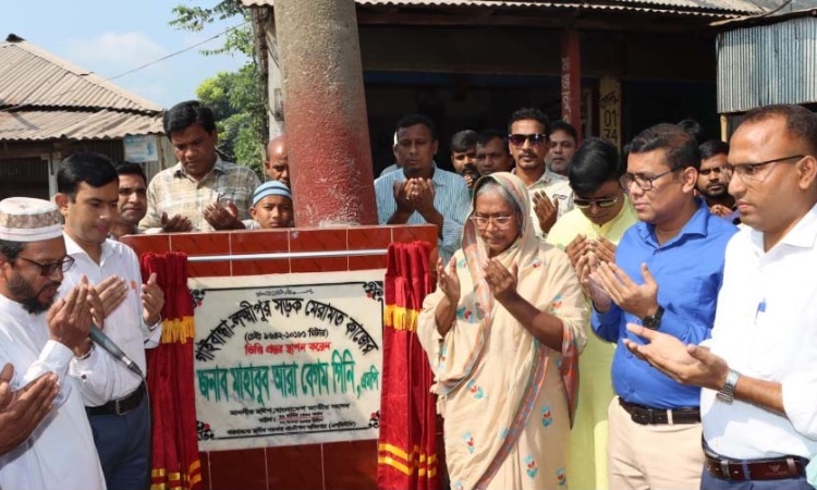
[[68,375],[74,356],[101,356],[88,339],[100,303],[87,283],[54,301],[72,265],[56,206],[26,197],[0,201],[0,364],[14,367],[12,390],[44,376],[57,377],[59,387],[45,421],[0,456],[4,489],[105,488],[81,381]]

